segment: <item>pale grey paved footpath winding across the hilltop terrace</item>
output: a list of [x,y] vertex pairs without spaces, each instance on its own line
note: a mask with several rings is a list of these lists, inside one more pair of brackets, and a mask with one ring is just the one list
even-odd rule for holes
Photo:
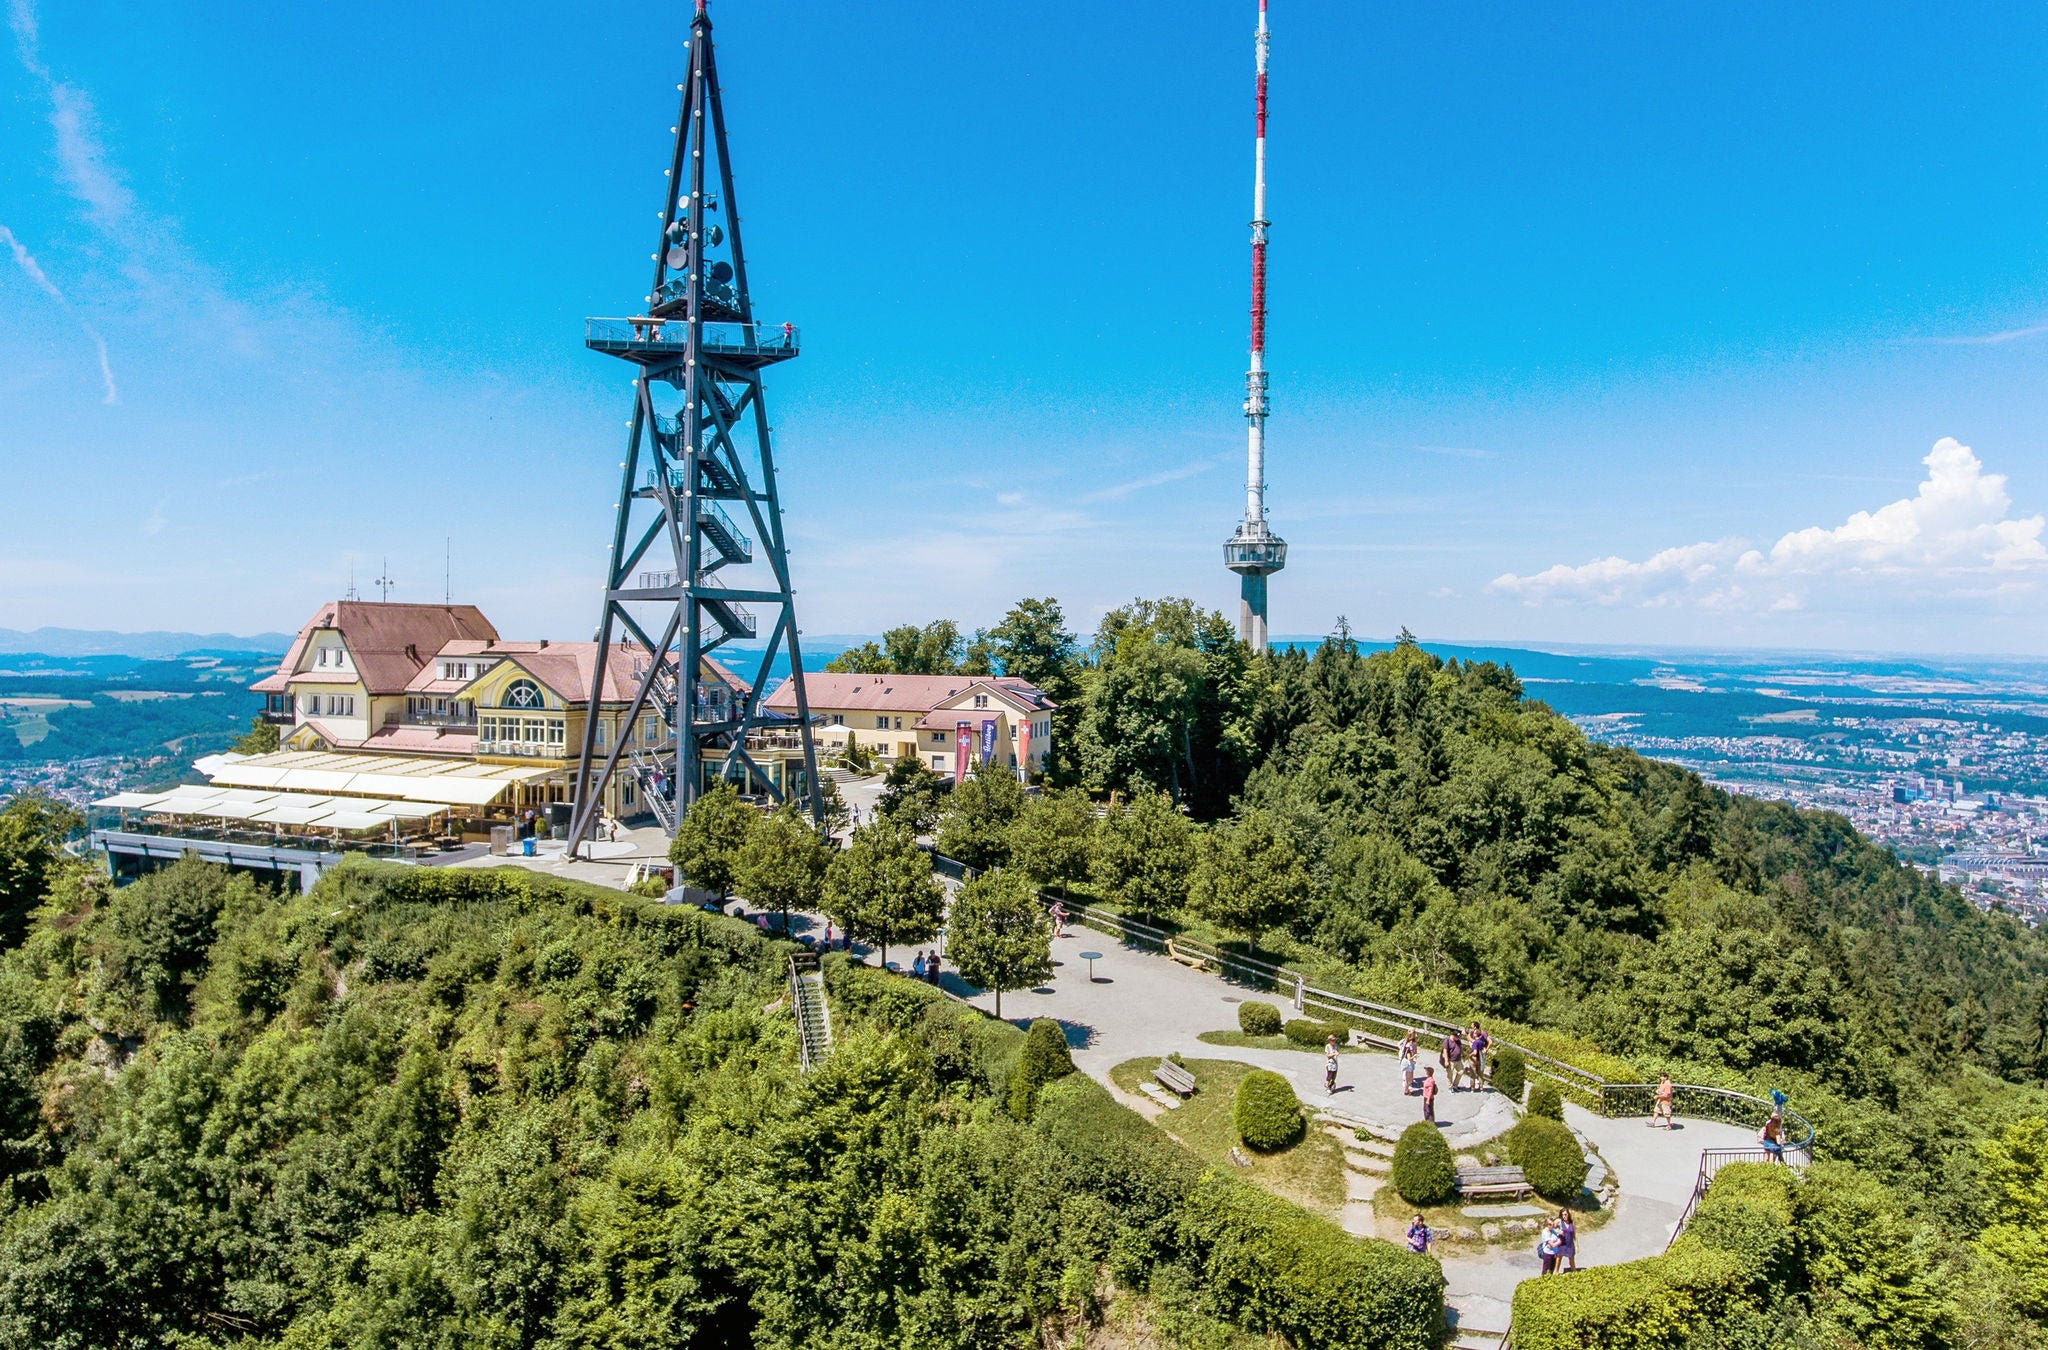
[[[1102,953],[1094,963],[1094,981],[1090,963],[1081,959],[1083,951]],[[1421,1104],[1401,1096],[1391,1055],[1346,1053],[1339,1059],[1337,1094],[1325,1096],[1321,1053],[1237,1049],[1198,1039],[1204,1030],[1235,1030],[1237,1006],[1245,1000],[1266,1000],[1290,1014],[1286,998],[1192,971],[1163,955],[1124,946],[1083,926],[1071,926],[1065,938],[1053,942],[1053,961],[1049,983],[1004,996],[1004,1016],[1020,1026],[1032,1018],[1057,1020],[1067,1030],[1075,1067],[1112,1092],[1116,1088],[1110,1084],[1110,1069],[1118,1063],[1180,1051],[1190,1059],[1235,1059],[1276,1069],[1294,1084],[1303,1104],[1319,1110],[1335,1106],[1346,1116],[1372,1121],[1374,1133],[1380,1129],[1399,1133],[1401,1127],[1421,1119]],[[946,985],[977,1008],[995,1006],[993,996],[977,994],[952,975],[946,977]],[[1432,1061],[1434,1055],[1425,1047],[1423,1063]],[[1157,1106],[1149,1100],[1135,1100],[1122,1092],[1118,1096],[1147,1114],[1157,1114]],[[1511,1125],[1505,1102],[1495,1092],[1440,1092],[1436,1106],[1438,1119],[1448,1123],[1446,1137],[1452,1147],[1487,1139]],[[1620,1188],[1614,1217],[1581,1235],[1581,1266],[1608,1266],[1663,1252],[1692,1196],[1700,1151],[1753,1143],[1749,1131],[1733,1125],[1679,1121],[1679,1129],[1673,1131],[1649,1129],[1640,1119],[1610,1121],[1577,1104],[1565,1106],[1565,1123],[1593,1145]],[[1360,1231],[1350,1213],[1346,1219],[1346,1227]],[[1446,1258],[1446,1303],[1454,1321],[1466,1332],[1497,1336],[1507,1330],[1507,1305],[1516,1284],[1538,1272],[1534,1248],[1530,1239],[1526,1250],[1497,1246],[1473,1256]]]

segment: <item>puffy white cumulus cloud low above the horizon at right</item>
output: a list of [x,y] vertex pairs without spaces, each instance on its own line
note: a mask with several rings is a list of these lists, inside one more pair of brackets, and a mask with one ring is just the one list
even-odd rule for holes
[[1911,498],[1860,510],[1837,526],[1792,531],[1769,549],[1718,539],[1642,561],[1604,557],[1505,574],[1489,590],[1526,604],[1698,606],[1794,613],[1827,600],[1997,596],[2048,574],[2042,516],[2013,516],[2003,473],[1944,436],[1921,461]]

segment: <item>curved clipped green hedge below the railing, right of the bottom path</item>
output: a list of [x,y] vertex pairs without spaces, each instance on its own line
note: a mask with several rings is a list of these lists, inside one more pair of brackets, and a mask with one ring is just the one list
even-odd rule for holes
[[1790,1168],[1722,1168],[1665,1256],[1524,1280],[1516,1350],[1679,1350],[1706,1323],[1763,1307],[1792,1274],[1794,1186]]

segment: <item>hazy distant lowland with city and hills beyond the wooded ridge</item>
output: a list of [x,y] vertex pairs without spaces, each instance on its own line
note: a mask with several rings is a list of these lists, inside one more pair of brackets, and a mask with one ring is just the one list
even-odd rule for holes
[[[195,781],[195,758],[248,729],[262,705],[248,684],[276,660],[168,658],[178,635],[127,658],[104,653],[119,635],[90,637],[90,653],[0,656],[0,797],[35,787],[84,803]],[[805,664],[852,641],[817,641]],[[1423,645],[1511,666],[1595,740],[1733,793],[1837,811],[1978,905],[2048,916],[2048,664]]]

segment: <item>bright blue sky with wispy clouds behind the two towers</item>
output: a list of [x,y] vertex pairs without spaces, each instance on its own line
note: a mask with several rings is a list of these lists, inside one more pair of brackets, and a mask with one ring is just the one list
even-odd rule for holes
[[[0,627],[586,635],[686,6],[4,2]],[[1274,0],[1274,631],[2048,653],[2048,10],[1550,8]],[[1249,0],[713,14],[805,629],[1231,608]]]

